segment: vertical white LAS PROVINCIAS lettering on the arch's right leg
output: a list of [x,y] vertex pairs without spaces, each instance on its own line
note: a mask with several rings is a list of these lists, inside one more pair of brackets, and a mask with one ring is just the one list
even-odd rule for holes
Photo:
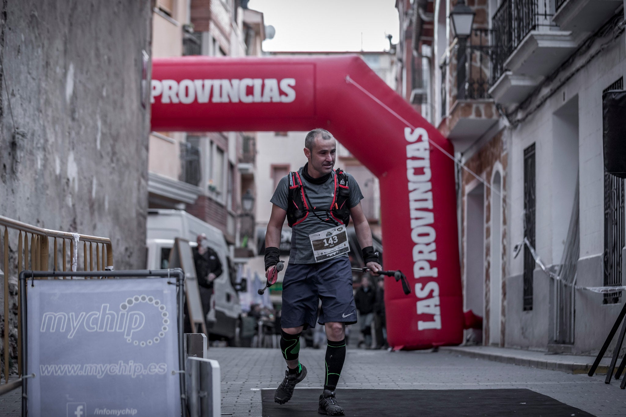
[[[415,279],[431,278],[426,284],[415,284],[417,313],[427,314],[428,320],[418,321],[418,330],[441,329],[439,307],[439,284],[437,268],[431,261],[437,260],[436,232],[433,228],[433,184],[430,168],[428,132],[423,128],[404,128],[406,146],[406,178],[409,180],[409,215],[411,216],[411,240],[413,240],[413,276]],[[432,293],[432,294],[431,294]]]

